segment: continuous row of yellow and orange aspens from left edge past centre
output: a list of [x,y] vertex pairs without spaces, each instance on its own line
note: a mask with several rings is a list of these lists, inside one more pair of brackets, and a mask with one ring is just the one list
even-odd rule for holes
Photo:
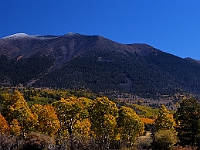
[[107,97],[70,95],[28,104],[15,90],[2,92],[0,101],[0,149],[119,149],[132,146],[144,131],[131,108],[117,107]]

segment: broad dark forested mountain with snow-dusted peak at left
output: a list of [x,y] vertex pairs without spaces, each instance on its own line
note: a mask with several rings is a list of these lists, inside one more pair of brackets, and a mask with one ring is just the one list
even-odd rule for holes
[[147,44],[68,33],[0,39],[0,85],[86,89],[144,98],[200,94],[200,63]]

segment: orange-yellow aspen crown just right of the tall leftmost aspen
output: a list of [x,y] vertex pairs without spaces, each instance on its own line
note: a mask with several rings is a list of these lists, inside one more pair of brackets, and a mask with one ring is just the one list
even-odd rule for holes
[[56,111],[51,105],[35,104],[31,107],[34,115],[38,118],[37,130],[43,134],[53,136],[60,128],[60,122],[56,115]]

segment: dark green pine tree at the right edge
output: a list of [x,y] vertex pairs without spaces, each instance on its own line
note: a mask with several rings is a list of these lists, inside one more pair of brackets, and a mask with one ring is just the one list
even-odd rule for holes
[[180,103],[175,113],[176,131],[181,145],[200,145],[200,104],[194,99],[186,99]]

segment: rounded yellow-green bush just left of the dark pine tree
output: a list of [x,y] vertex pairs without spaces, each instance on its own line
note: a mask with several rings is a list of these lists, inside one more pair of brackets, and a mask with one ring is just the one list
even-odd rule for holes
[[177,136],[171,130],[160,130],[154,137],[155,147],[160,150],[170,150],[178,142]]

